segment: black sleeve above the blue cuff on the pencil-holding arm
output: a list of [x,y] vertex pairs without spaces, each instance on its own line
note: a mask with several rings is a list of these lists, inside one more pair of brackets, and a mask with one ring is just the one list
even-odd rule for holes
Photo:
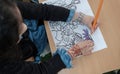
[[17,2],[24,19],[67,21],[70,10],[53,5]]

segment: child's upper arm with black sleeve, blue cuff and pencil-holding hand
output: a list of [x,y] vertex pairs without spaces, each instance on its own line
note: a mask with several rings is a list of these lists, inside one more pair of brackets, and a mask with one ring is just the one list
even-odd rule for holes
[[[80,22],[86,24],[90,29],[94,20],[94,17],[92,16],[85,15],[81,12],[75,12],[75,10],[69,10],[60,6],[27,2],[17,2],[17,5],[24,19],[41,19],[65,22],[78,19]],[[96,24],[98,25],[98,22]],[[94,31],[91,30],[91,32]]]

